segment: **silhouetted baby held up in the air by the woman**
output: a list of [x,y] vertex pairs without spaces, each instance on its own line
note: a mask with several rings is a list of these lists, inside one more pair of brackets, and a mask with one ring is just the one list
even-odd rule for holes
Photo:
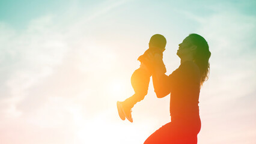
[[141,65],[137,70],[133,72],[131,77],[132,88],[135,94],[124,101],[117,101],[118,114],[122,120],[127,118],[130,122],[133,122],[132,107],[137,102],[143,100],[145,95],[147,95],[150,77],[154,71],[153,65],[147,61],[147,56],[150,54],[154,55],[154,53],[163,55],[165,46],[165,37],[160,34],[155,34],[150,38],[148,49],[144,52],[143,55],[139,56],[138,61],[141,62]]

